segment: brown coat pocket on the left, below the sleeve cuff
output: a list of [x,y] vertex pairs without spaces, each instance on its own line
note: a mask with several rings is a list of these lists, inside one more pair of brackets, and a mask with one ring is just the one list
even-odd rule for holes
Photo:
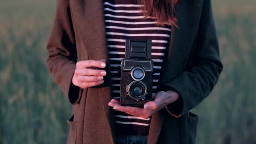
[[76,122],[74,122],[74,115],[72,115],[72,117],[69,118],[67,123],[69,124],[67,144],[76,144],[77,125]]

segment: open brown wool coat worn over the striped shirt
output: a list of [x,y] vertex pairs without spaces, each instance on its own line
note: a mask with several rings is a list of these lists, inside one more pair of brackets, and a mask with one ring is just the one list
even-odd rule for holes
[[[194,144],[198,117],[189,110],[208,96],[222,71],[211,1],[182,0],[176,17],[179,28],[172,28],[159,91],[173,89],[181,102],[152,116],[148,144]],[[57,0],[47,49],[53,80],[73,105],[67,143],[114,144],[113,110],[107,105],[112,93],[103,0]],[[76,61],[88,59],[107,59],[107,76],[102,85],[81,89],[71,80]]]

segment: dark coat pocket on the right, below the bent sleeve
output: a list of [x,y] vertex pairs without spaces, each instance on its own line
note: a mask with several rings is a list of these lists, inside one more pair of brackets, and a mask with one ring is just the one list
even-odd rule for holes
[[188,115],[188,144],[195,144],[198,116],[189,112]]

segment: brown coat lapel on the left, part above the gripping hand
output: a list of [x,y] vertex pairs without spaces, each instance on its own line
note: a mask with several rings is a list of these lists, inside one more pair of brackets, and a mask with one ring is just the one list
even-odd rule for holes
[[102,0],[74,0],[70,3],[74,5],[72,16],[89,58],[108,59]]

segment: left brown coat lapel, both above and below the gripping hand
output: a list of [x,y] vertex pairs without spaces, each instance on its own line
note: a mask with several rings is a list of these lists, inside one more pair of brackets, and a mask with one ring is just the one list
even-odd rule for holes
[[80,37],[88,52],[89,59],[106,59],[107,75],[104,77],[104,84],[94,91],[99,94],[102,107],[106,114],[109,132],[114,142],[114,115],[113,110],[107,104],[112,99],[111,92],[111,72],[107,51],[106,30],[104,22],[104,6],[102,0],[72,0],[70,1],[75,26],[80,32]]

